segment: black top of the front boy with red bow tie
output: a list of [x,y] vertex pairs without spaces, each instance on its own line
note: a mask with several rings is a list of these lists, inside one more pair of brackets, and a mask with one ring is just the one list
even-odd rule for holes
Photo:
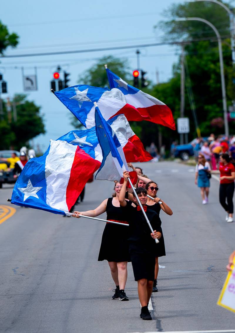
[[[155,239],[151,237],[151,229],[142,210],[138,211],[137,207],[133,207],[131,201],[128,201],[126,207],[122,207],[122,209],[125,212],[126,219],[130,225],[130,237],[128,239],[130,243],[135,244],[141,250],[150,252],[154,251],[157,244]],[[147,206],[146,215],[153,230],[161,232],[161,220],[158,214]]]

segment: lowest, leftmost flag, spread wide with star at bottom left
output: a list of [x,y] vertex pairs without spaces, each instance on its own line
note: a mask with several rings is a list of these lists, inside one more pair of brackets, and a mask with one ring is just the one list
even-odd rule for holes
[[71,215],[70,208],[100,162],[84,138],[84,149],[76,140],[69,143],[66,138],[51,140],[43,156],[26,163],[13,188],[11,203]]

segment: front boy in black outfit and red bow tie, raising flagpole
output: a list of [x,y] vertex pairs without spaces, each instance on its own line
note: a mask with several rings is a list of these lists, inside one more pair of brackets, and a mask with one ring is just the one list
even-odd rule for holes
[[153,289],[155,253],[156,247],[158,246],[155,242],[155,238],[161,238],[161,221],[158,214],[149,209],[146,205],[146,189],[138,187],[136,193],[154,230],[154,232],[151,233],[144,214],[141,211],[140,206],[137,204],[136,197],[134,196],[133,198],[136,204],[125,200],[129,172],[125,171],[123,177],[124,183],[119,194],[119,202],[125,213],[126,220],[129,222],[129,251],[134,277],[138,282],[138,294],[141,303],[140,317],[144,320],[151,320],[152,317],[148,310],[148,303]]

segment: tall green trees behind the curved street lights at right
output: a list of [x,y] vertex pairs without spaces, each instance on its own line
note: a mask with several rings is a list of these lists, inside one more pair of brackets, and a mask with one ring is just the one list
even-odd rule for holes
[[[234,98],[234,84],[232,84],[232,63],[229,37],[229,17],[219,5],[211,2],[174,4],[165,12],[168,22],[162,22],[168,39],[172,40],[201,40],[188,43],[185,46],[186,61],[189,77],[186,85],[190,85],[194,94],[199,127],[203,136],[211,132],[221,134],[224,129],[213,126],[213,119],[223,118],[220,64],[218,42],[214,31],[205,23],[199,21],[174,21],[178,17],[200,17],[208,20],[219,30],[223,38],[223,58],[228,105]],[[174,118],[180,115],[180,64],[176,64],[173,78],[166,84],[160,84],[153,90],[154,96],[164,101],[173,111]],[[185,116],[190,118],[190,139],[196,136],[193,117],[186,90]],[[230,131],[235,130],[235,123],[230,122]],[[163,134],[172,139],[177,133],[164,128]],[[167,132],[167,133],[166,133]],[[170,134],[171,133],[171,134]]]

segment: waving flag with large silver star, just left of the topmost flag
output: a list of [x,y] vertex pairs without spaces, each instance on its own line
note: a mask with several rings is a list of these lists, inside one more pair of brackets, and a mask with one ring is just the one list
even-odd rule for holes
[[93,102],[97,102],[105,120],[120,114],[124,114],[128,121],[141,121],[149,118],[141,115],[134,106],[127,104],[124,94],[117,88],[109,90],[108,88],[78,85],[55,91],[54,94],[87,129],[95,126]]

